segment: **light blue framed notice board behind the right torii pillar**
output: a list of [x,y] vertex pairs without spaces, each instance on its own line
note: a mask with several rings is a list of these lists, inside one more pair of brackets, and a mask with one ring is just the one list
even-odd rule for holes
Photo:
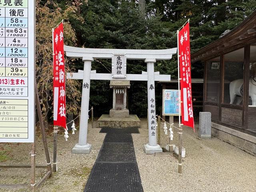
[[179,90],[163,89],[163,116],[179,116]]

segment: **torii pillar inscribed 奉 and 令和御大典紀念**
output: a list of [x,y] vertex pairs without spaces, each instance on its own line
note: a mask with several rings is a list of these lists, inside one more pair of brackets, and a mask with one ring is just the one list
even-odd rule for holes
[[[154,63],[156,59],[145,59],[148,72],[148,144],[144,145],[146,154],[162,152],[162,148],[156,142],[156,97]],[[160,127],[160,126],[159,126]]]

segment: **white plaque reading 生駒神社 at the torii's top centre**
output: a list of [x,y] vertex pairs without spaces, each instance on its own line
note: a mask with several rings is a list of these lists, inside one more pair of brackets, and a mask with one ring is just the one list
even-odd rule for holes
[[126,78],[126,54],[112,54],[112,77]]

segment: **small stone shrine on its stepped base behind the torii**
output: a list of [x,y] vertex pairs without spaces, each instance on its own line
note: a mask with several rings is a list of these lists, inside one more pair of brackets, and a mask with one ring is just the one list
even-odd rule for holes
[[130,115],[126,108],[126,93],[130,88],[128,80],[110,80],[110,88],[113,88],[113,108],[109,115],[103,114],[99,119],[99,126],[109,128],[140,128],[140,119],[137,115]]

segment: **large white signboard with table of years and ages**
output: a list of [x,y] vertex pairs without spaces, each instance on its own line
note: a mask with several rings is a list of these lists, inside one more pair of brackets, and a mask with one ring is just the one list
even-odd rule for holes
[[34,0],[0,3],[0,142],[34,142]]

